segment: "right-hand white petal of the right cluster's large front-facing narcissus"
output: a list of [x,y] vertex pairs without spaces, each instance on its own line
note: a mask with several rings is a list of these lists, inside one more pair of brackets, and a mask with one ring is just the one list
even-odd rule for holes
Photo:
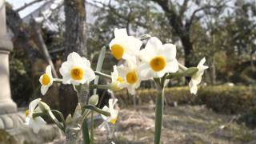
[[176,46],[170,43],[163,45],[162,54],[166,60],[173,60],[176,58]]

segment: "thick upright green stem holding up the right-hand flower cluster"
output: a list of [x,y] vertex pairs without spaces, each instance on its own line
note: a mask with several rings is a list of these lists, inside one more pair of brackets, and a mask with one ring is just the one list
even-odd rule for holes
[[162,114],[164,106],[164,90],[158,90],[155,108],[155,124],[154,124],[154,144],[160,143],[162,129]]

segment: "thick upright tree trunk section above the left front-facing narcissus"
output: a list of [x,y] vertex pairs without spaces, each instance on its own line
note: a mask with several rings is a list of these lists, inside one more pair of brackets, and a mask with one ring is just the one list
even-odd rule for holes
[[65,0],[65,51],[87,56],[86,50],[86,9],[85,0]]

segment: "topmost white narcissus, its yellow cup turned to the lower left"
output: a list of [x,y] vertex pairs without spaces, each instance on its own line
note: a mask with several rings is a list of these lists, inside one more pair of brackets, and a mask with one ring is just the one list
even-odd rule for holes
[[114,58],[127,59],[138,53],[142,41],[134,36],[128,36],[126,29],[114,29],[114,39],[110,42],[110,50]]

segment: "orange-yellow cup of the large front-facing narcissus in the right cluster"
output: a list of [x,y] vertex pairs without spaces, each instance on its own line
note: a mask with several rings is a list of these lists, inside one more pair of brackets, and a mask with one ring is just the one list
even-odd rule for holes
[[156,56],[151,59],[150,66],[154,71],[163,70],[166,67],[166,58],[162,56]]

